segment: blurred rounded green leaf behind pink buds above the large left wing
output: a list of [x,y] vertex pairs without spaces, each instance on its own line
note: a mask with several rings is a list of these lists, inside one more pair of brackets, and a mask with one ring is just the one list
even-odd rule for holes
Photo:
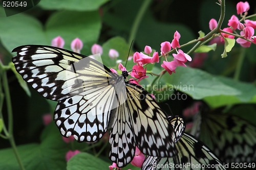
[[82,54],[86,55],[90,55],[91,46],[97,42],[100,29],[98,11],[60,11],[51,15],[46,23],[49,43],[60,35],[66,42],[64,48],[69,49],[72,40],[78,37],[83,42]]

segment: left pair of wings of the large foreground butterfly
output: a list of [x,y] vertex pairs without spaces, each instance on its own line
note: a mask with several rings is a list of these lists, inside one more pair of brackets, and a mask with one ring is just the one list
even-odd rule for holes
[[124,80],[100,62],[61,48],[41,45],[16,47],[17,72],[47,99],[59,101],[54,120],[63,136],[95,141],[109,126],[117,107],[116,83]]

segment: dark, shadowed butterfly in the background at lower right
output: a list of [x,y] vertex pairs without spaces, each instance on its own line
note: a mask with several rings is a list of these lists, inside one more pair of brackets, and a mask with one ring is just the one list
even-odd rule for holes
[[191,134],[198,136],[226,164],[255,163],[255,126],[236,115],[220,113],[220,109],[209,110],[203,103],[198,107],[201,108],[197,109]]

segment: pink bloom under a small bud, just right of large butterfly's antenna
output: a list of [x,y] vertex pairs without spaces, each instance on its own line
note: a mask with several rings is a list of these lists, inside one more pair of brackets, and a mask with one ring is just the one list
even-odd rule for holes
[[135,57],[136,57],[136,63],[139,63],[139,65],[146,64],[146,63],[159,62],[159,56],[157,52],[154,52],[153,57],[147,56],[143,53],[139,53],[139,54],[137,53]]

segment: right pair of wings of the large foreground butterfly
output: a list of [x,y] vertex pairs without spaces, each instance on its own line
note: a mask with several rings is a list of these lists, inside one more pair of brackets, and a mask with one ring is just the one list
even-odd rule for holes
[[[174,130],[157,102],[142,87],[133,83],[126,83],[126,92],[126,102],[120,99],[123,104],[113,114],[110,159],[118,162],[118,167],[131,162],[135,145],[147,155],[176,154],[174,141],[169,137],[175,135]],[[120,120],[123,122],[120,123]]]

